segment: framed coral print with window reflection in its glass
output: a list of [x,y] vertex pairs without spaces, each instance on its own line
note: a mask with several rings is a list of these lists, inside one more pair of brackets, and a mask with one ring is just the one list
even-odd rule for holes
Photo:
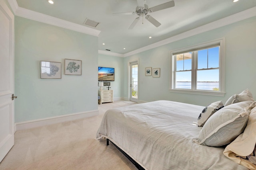
[[41,78],[61,78],[61,63],[40,61]]

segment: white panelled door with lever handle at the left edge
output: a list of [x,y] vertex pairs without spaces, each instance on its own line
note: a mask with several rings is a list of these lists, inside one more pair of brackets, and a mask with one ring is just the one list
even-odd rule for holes
[[0,0],[0,161],[14,145],[14,16]]

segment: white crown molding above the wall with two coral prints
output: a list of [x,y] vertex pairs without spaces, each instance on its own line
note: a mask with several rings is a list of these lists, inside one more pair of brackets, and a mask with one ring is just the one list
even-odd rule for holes
[[45,14],[42,14],[39,12],[21,8],[18,6],[18,3],[16,0],[8,0],[8,2],[10,4],[15,16],[20,16],[20,17],[27,18],[30,20],[47,23],[47,24],[54,25],[57,27],[62,27],[62,28],[70,29],[73,31],[81,32],[81,33],[86,33],[86,34],[94,35],[97,37],[100,34],[100,30],[97,30],[97,29],[93,29],[90,27],[79,25],[77,23],[69,22],[66,20],[62,20],[59,18],[45,15]]

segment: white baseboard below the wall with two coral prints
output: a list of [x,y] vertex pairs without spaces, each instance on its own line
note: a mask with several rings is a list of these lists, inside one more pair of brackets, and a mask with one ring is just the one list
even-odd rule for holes
[[80,113],[72,113],[72,114],[67,114],[67,115],[47,117],[44,119],[36,119],[36,120],[31,120],[31,121],[18,122],[18,123],[15,123],[14,132],[24,130],[24,129],[31,129],[34,127],[52,125],[55,123],[61,123],[61,122],[65,122],[65,121],[82,119],[85,117],[92,117],[92,116],[96,116],[96,115],[99,115],[99,110],[92,110],[92,111],[86,111],[86,112],[80,112]]

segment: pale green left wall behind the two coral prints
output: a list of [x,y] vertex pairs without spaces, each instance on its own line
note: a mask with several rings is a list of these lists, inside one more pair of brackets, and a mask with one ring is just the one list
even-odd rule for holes
[[[82,60],[65,75],[64,59]],[[40,61],[61,62],[61,79],[40,79]],[[15,17],[15,122],[95,111],[98,37]]]

